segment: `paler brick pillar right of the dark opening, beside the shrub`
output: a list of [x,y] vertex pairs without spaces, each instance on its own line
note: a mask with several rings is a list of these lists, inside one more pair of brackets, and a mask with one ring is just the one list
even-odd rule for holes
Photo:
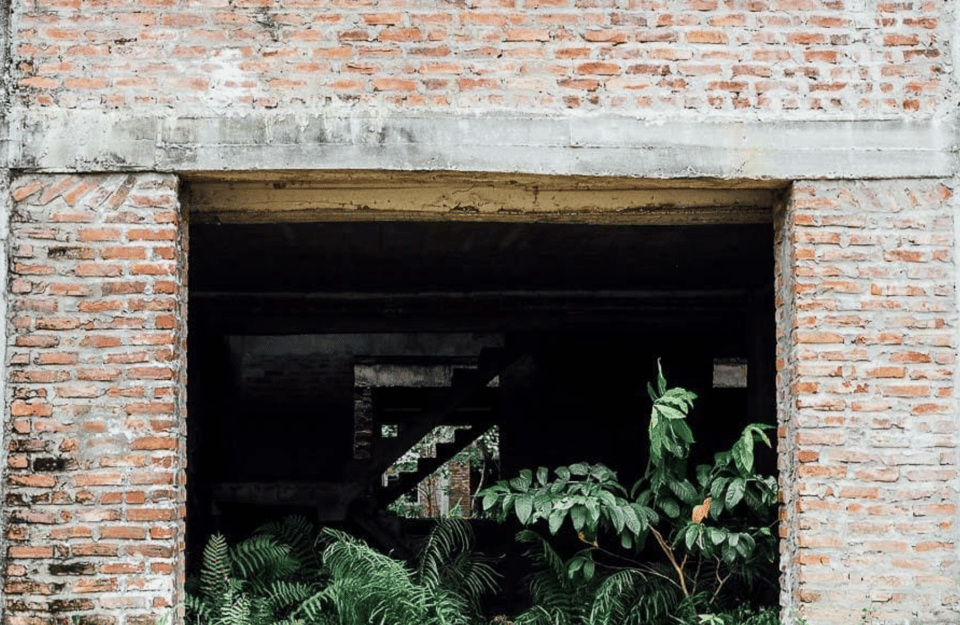
[[960,619],[953,201],[939,181],[797,182],[777,211],[787,616]]

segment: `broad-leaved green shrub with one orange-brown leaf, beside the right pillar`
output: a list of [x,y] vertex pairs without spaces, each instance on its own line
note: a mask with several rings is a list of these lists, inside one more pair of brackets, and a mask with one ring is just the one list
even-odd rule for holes
[[485,489],[483,507],[550,535],[568,523],[576,532],[581,547],[565,572],[593,589],[593,607],[563,622],[725,625],[715,620],[724,618],[724,587],[735,577],[749,584],[775,553],[776,481],[754,464],[772,426],[748,425],[730,450],[691,471],[686,417],[696,395],[668,388],[659,367],[647,390],[647,465],[632,488],[601,464],[539,467]]

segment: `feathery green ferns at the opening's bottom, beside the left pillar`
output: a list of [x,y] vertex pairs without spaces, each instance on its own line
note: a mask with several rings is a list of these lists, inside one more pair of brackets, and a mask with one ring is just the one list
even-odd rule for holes
[[468,625],[496,588],[464,521],[438,523],[410,567],[289,517],[234,546],[211,536],[187,613],[199,625]]

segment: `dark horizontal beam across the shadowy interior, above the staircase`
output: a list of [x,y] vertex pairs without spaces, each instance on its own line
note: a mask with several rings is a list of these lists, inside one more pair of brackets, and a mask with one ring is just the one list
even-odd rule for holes
[[[552,332],[709,335],[739,328],[749,292],[190,293],[190,318],[235,335]],[[740,340],[739,330],[732,333]]]

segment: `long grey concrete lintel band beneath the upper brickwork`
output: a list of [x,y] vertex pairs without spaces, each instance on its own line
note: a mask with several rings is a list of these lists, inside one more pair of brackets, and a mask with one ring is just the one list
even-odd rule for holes
[[690,121],[592,116],[15,115],[38,171],[451,170],[637,178],[948,177],[954,120]]

